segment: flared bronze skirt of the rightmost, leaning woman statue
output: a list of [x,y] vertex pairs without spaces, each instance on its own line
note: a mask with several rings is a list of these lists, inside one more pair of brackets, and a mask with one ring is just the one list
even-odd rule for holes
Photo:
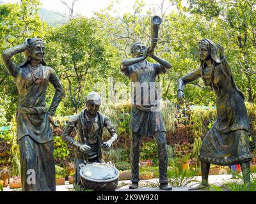
[[248,134],[244,129],[222,133],[213,126],[202,142],[200,161],[223,166],[250,161]]

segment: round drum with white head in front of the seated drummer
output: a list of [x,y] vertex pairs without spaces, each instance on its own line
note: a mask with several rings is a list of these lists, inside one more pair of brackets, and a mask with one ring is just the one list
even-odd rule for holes
[[115,166],[106,163],[92,163],[81,167],[81,183],[93,191],[115,191],[119,172]]

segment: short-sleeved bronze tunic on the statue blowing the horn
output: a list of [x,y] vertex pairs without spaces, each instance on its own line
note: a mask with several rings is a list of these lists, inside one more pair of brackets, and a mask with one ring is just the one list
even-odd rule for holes
[[[160,105],[156,77],[160,73],[166,73],[166,68],[158,63],[141,61],[125,67],[122,72],[134,83],[130,122],[132,132],[141,136],[166,132],[161,112],[156,109]],[[143,84],[146,84],[146,89],[141,88]],[[136,90],[141,90],[140,94]]]

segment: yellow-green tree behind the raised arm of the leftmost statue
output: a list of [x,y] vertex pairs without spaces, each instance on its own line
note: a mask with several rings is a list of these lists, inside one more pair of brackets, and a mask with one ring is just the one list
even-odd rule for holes
[[[20,0],[18,4],[0,4],[0,52],[23,43],[26,38],[44,38],[47,33],[47,25],[40,20],[38,10],[39,0]],[[19,64],[24,55],[15,55],[13,60]],[[1,103],[9,106],[7,118],[10,120],[17,105],[17,89],[13,79],[9,77],[3,62],[0,61],[0,93],[6,96],[7,102]],[[3,102],[3,101],[2,101]]]

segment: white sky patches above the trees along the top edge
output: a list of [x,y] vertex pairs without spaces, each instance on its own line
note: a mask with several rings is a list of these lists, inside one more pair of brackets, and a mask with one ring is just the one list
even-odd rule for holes
[[[2,0],[4,3],[17,3],[19,0]],[[69,5],[71,5],[72,0],[63,0],[66,1]],[[119,0],[119,14],[122,15],[127,12],[133,11],[134,2],[136,0]],[[168,0],[144,0],[146,3],[146,10],[149,8],[155,7],[157,5],[161,5],[164,1],[164,8],[168,8],[170,3]],[[79,13],[86,17],[92,17],[93,11],[100,11],[106,8],[112,0],[78,0],[74,6],[74,13]],[[61,3],[60,0],[41,0],[42,7],[47,10],[60,11],[61,13],[68,13],[67,6]],[[175,8],[171,6],[168,11],[172,11]],[[168,13],[168,12],[167,12]],[[160,10],[155,13],[156,15],[160,15]]]

